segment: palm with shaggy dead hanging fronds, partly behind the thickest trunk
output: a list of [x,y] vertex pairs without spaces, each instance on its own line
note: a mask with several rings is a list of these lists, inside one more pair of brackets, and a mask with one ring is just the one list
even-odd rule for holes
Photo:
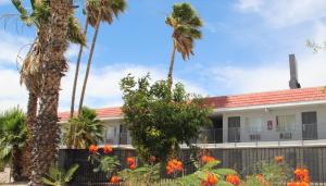
[[[37,116],[37,102],[41,90],[41,62],[43,49],[47,46],[47,29],[46,25],[49,21],[49,3],[47,1],[30,1],[32,12],[29,13],[23,7],[22,0],[12,0],[13,5],[20,13],[20,17],[27,26],[35,26],[37,28],[37,37],[27,53],[22,69],[21,69],[21,84],[25,84],[28,89],[28,103],[27,103],[27,141],[24,151],[23,168],[26,172],[30,173],[30,157],[32,157],[32,135],[30,131],[36,123]],[[74,17],[70,17],[67,39],[74,44],[85,45],[86,39],[80,30],[80,25]]]

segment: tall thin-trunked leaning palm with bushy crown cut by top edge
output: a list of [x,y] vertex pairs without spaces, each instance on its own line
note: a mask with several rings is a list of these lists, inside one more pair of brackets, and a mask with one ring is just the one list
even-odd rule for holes
[[95,27],[95,34],[92,37],[90,52],[87,62],[86,75],[84,78],[78,114],[82,113],[82,108],[84,103],[84,97],[87,86],[87,80],[90,71],[90,64],[92,60],[92,54],[95,50],[95,46],[97,42],[97,37],[99,34],[100,23],[106,22],[109,24],[113,23],[113,18],[117,17],[120,13],[123,13],[126,10],[126,1],[125,0],[87,0],[87,20],[88,23]]

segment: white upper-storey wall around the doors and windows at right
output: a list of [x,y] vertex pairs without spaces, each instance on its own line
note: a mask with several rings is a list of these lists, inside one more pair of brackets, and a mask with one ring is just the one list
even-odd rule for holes
[[[290,140],[302,139],[302,112],[316,111],[317,115],[317,136],[318,139],[326,139],[326,106],[314,104],[314,106],[299,106],[299,107],[287,107],[287,108],[274,108],[274,109],[256,109],[248,111],[233,111],[223,113],[223,141],[227,142],[228,138],[228,117],[240,116],[240,141],[254,141],[250,139],[250,132],[246,129],[247,117],[262,117],[262,131],[258,132],[261,141],[277,141],[279,140],[279,133],[276,127],[276,116],[294,114],[296,126]],[[273,128],[267,128],[267,121],[272,121]]]

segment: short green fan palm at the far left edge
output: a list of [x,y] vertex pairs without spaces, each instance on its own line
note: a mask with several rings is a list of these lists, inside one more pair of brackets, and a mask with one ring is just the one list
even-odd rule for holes
[[27,178],[24,173],[22,157],[26,140],[26,119],[20,109],[11,109],[1,116],[0,128],[0,162],[5,165],[12,164],[12,175],[14,181]]

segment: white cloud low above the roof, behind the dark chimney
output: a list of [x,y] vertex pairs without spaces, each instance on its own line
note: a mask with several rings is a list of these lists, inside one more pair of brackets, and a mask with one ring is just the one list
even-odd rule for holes
[[[312,28],[313,40],[326,40],[326,25],[316,22]],[[304,45],[301,44],[302,48]],[[302,87],[324,86],[326,85],[326,51],[313,53],[311,49],[305,48],[297,53],[299,83]],[[267,60],[267,58],[266,58]],[[275,89],[289,88],[288,80],[289,63],[285,57],[283,61],[264,61],[255,66],[224,66],[212,67],[206,72],[212,74],[214,84],[221,85],[222,89],[233,94],[267,91]]]

